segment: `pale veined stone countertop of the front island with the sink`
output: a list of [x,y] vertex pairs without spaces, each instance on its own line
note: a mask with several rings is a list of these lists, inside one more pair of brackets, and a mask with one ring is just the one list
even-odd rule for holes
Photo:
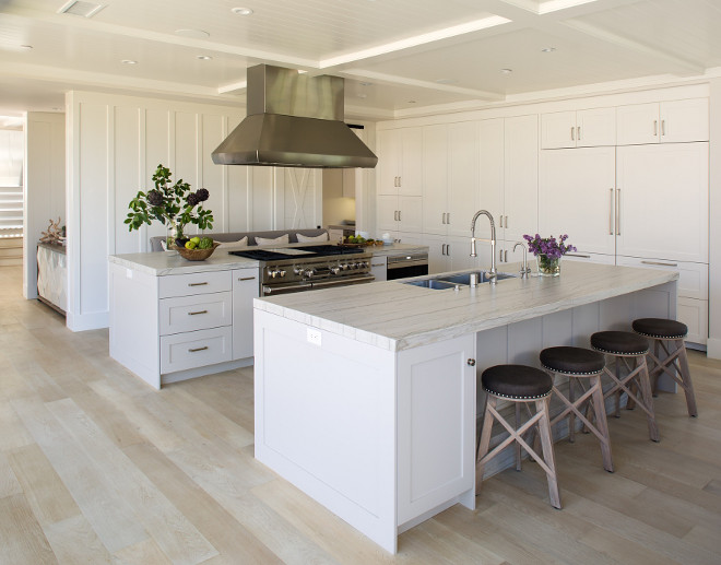
[[[518,264],[509,264],[517,272]],[[566,261],[557,278],[438,291],[397,281],[256,298],[255,307],[391,351],[553,314],[674,281],[654,269]]]

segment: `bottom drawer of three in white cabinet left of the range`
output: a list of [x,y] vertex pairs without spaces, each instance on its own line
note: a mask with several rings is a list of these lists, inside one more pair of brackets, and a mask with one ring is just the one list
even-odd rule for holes
[[233,329],[190,331],[161,338],[161,373],[214,365],[231,361]]

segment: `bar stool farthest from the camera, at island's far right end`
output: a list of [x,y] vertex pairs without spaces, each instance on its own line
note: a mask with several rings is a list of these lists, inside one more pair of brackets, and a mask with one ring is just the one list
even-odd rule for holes
[[[688,333],[685,323],[665,318],[640,318],[631,323],[634,331],[645,338],[653,340],[653,352],[648,352],[652,365],[649,364],[649,378],[653,382],[653,392],[657,391],[659,377],[666,373],[686,392],[686,408],[688,415],[696,417],[696,395],[688,369],[688,356],[684,338]],[[661,360],[661,350],[665,357]]]

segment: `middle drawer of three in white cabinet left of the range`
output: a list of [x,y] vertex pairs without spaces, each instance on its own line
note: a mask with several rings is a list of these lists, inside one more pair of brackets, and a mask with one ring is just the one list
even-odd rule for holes
[[233,322],[229,292],[161,299],[161,336],[204,330]]

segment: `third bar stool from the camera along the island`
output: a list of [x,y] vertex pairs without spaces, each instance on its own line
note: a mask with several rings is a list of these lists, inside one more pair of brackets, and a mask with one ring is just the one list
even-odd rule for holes
[[[603,398],[617,395],[616,417],[618,417],[618,397],[622,392],[626,392],[628,402],[635,402],[646,412],[649,437],[651,440],[658,442],[659,428],[655,424],[651,381],[646,363],[646,354],[649,352],[648,341],[630,331],[599,331],[591,336],[591,346],[614,357],[615,374],[607,366],[603,367],[603,372],[613,380],[613,386],[606,390]],[[634,360],[634,367],[629,364],[629,360]],[[620,375],[620,362],[628,370],[628,374],[624,377]]]

